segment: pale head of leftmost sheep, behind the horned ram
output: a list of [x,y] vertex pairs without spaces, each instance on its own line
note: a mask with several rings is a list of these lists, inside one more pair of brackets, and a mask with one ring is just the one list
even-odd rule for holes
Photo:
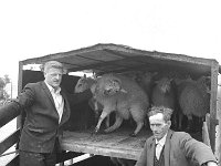
[[84,92],[84,91],[88,90],[94,83],[95,83],[94,79],[86,77],[86,75],[84,75],[77,81],[74,92],[75,93]]

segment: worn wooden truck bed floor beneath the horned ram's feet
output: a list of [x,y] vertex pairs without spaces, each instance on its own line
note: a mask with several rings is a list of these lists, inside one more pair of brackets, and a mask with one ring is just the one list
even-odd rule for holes
[[136,137],[131,137],[129,136],[131,129],[125,128],[108,134],[94,135],[92,133],[92,131],[64,132],[62,148],[77,153],[137,160],[145,141],[151,135],[150,131],[143,129]]

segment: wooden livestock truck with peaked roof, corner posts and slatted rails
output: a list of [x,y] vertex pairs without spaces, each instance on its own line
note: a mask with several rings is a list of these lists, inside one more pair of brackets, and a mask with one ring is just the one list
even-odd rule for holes
[[[124,73],[130,71],[176,71],[188,73],[193,77],[202,75],[210,76],[210,110],[199,133],[192,136],[211,146],[215,157],[221,162],[221,98],[220,85],[218,83],[221,66],[214,59],[204,59],[185,54],[166,53],[158,51],[138,50],[126,45],[113,43],[98,43],[87,48],[81,48],[69,52],[60,52],[19,62],[18,93],[30,82],[42,81],[43,73],[28,65],[40,65],[46,61],[55,60],[64,64],[66,74],[63,75],[62,85],[70,93],[74,92],[74,85],[80,76],[72,73],[78,71],[93,72],[97,75],[105,73]],[[108,134],[92,134],[94,115],[87,103],[72,105],[74,110],[62,139],[63,153],[57,159],[57,164],[64,165],[65,160],[90,154],[87,159],[83,159],[77,165],[90,165],[90,163],[101,163],[98,157],[117,157],[137,160],[145,141],[151,136],[148,127],[144,127],[136,136],[129,136],[131,129],[127,123],[119,129]],[[24,113],[0,112],[0,127],[17,118],[17,131],[0,143],[0,155],[19,142],[20,129],[25,118]],[[19,154],[8,162],[7,166],[18,166]],[[75,165],[75,164],[73,164]],[[98,165],[98,164],[97,164]],[[103,163],[103,165],[105,165]]]

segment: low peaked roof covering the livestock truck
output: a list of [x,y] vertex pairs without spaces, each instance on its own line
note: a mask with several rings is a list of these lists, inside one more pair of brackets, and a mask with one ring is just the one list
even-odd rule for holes
[[144,51],[112,43],[96,44],[69,52],[28,59],[21,62],[23,65],[41,64],[49,60],[62,62],[69,72],[92,70],[97,74],[133,70],[164,71],[167,69],[185,71],[194,75],[210,75],[211,66],[218,64],[213,59]]

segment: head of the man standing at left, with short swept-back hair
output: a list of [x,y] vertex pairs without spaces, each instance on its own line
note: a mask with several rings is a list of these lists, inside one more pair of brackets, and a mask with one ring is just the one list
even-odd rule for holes
[[49,61],[44,64],[45,82],[54,89],[60,86],[63,73],[63,64],[57,61]]

